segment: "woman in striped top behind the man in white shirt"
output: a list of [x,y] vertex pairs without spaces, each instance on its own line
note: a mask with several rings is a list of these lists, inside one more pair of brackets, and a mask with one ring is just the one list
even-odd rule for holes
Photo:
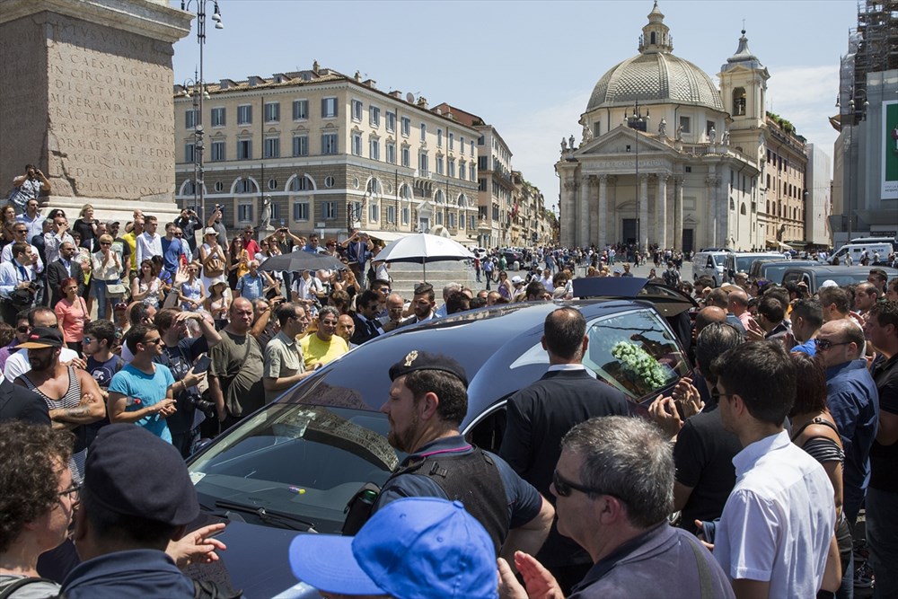
[[[830,477],[836,504],[836,542],[844,575],[841,587],[850,589],[854,585],[853,543],[848,520],[842,512],[845,450],[842,448],[839,427],[826,406],[826,374],[814,357],[799,352],[791,353],[789,357],[796,367],[795,403],[788,415],[792,422],[792,443],[820,462],[826,475]],[[839,588],[839,581],[824,577],[823,588],[835,591]]]

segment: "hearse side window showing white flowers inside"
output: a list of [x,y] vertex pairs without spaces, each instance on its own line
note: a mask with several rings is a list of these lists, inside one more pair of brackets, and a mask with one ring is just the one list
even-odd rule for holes
[[619,313],[590,323],[583,364],[634,400],[689,372],[674,336],[653,310]]

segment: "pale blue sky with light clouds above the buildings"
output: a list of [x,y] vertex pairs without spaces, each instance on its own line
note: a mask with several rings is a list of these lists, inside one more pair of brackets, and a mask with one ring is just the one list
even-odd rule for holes
[[[180,8],[180,0],[172,0]],[[577,124],[594,85],[638,54],[651,0],[220,0],[225,29],[207,3],[204,78],[309,69],[314,60],[378,89],[447,102],[497,128],[512,167],[558,203],[553,168],[561,137]],[[189,9],[195,10],[196,2]],[[832,157],[840,57],[857,26],[854,0],[660,0],[674,55],[717,83],[744,27],[770,72],[767,110]],[[174,81],[199,65],[196,20],[174,46]]]

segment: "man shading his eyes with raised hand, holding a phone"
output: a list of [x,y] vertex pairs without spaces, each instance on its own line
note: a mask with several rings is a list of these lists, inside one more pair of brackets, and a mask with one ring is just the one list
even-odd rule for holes
[[[191,322],[198,324],[201,335],[191,335]],[[174,400],[178,411],[167,418],[172,445],[186,458],[199,442],[199,426],[207,418],[215,417],[215,406],[203,403],[198,384],[201,386],[206,380],[209,367],[207,352],[222,338],[214,324],[206,320],[204,313],[164,308],[156,313],[154,324],[163,343],[163,350],[154,357],[154,362],[168,366],[175,380]]]

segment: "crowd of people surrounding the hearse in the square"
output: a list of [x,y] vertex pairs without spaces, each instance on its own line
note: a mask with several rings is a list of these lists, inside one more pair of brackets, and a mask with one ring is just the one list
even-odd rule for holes
[[[195,596],[179,567],[225,549],[219,527],[185,535],[198,504],[183,459],[202,437],[387,331],[568,299],[577,264],[632,277],[614,248],[533,251],[525,277],[487,257],[486,288],[450,283],[438,303],[427,283],[396,293],[360,232],[248,228],[229,242],[219,210],[205,223],[182,211],[163,235],[154,216],[119,229],[89,206],[70,231],[65,212],[40,219],[31,200],[13,223],[0,264],[0,592],[25,586],[11,596]],[[346,269],[264,268],[292,251]],[[715,287],[681,280],[683,258],[655,252],[666,269],[654,282],[698,304],[670,317],[694,374],[644,418],[590,376],[585,320],[563,304],[544,325],[546,374],[508,398],[498,454],[459,430],[462,366],[397,356],[383,411],[407,457],[351,510],[348,536],[293,542],[296,575],[325,596],[850,597],[872,572],[876,596],[898,595],[898,281],[871,269],[811,295],[739,273]],[[66,546],[82,563],[63,567]]]

